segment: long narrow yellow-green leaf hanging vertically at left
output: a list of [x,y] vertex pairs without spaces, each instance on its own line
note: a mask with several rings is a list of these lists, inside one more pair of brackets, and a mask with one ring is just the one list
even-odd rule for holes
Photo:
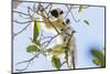
[[34,25],[33,25],[33,42],[36,42],[36,39],[40,33],[40,22],[37,22],[36,19],[34,19]]

